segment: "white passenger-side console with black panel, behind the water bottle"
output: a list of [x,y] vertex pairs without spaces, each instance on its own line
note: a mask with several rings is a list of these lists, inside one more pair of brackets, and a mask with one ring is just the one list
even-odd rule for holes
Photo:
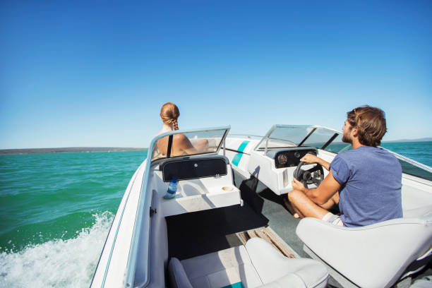
[[[169,181],[176,177],[175,198],[164,199]],[[164,216],[179,215],[242,203],[239,188],[234,186],[232,168],[227,157],[184,158],[152,167],[152,188],[160,196]]]

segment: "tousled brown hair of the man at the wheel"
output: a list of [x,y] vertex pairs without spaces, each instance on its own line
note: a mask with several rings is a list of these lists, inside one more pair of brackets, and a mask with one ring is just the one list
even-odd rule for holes
[[347,112],[349,125],[357,128],[359,142],[362,145],[376,147],[381,144],[387,126],[385,125],[385,113],[383,110],[361,106]]

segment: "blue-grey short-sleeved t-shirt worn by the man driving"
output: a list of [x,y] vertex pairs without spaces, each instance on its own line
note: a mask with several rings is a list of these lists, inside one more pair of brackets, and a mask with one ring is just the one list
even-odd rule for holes
[[340,219],[360,227],[402,217],[402,168],[387,150],[361,146],[341,152],[330,164],[341,184]]

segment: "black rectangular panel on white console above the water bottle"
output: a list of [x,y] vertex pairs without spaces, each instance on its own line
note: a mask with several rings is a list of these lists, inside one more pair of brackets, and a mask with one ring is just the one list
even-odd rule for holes
[[224,157],[176,160],[164,162],[161,166],[165,182],[173,178],[187,180],[227,175],[227,161]]

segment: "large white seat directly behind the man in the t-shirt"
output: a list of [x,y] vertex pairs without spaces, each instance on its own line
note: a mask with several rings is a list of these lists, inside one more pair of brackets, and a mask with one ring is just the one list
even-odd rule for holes
[[431,256],[432,210],[414,214],[421,217],[356,228],[304,218],[296,234],[313,254],[359,287],[391,287],[420,270]]

